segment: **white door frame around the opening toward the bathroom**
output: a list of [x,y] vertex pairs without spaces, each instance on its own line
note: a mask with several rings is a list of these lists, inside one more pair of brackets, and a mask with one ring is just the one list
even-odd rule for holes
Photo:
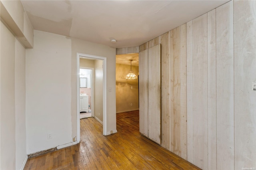
[[[97,63],[102,63],[102,86],[100,87],[100,90],[102,90],[102,95],[100,95],[100,97],[102,98],[102,121],[100,121],[100,123],[102,123],[103,125],[103,135],[107,135],[107,120],[106,120],[106,57],[100,57],[100,56],[96,56],[96,55],[88,55],[88,54],[82,54],[82,53],[77,53],[76,55],[76,60],[77,60],[77,142],[80,142],[80,58],[83,59],[90,59],[90,60],[94,60],[95,62],[97,61],[101,61],[101,62],[97,62]],[[97,74],[97,70],[94,69],[95,75]],[[96,82],[94,82],[94,84],[96,84]],[[93,93],[93,92],[92,92]],[[94,95],[94,97],[96,97],[96,95]],[[94,98],[95,100],[95,98]],[[95,107],[94,107],[94,103],[92,103],[92,108],[94,108],[94,117],[97,116],[97,114],[100,113],[96,113],[95,112]]]

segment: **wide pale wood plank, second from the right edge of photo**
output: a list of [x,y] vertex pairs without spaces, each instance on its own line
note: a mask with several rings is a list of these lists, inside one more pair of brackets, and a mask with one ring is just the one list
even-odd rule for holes
[[233,1],[216,8],[217,169],[234,169]]

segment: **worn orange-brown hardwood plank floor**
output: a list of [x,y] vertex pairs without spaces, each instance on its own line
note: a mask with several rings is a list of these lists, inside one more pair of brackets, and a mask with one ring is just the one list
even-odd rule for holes
[[139,112],[116,115],[117,133],[102,135],[93,117],[81,119],[79,144],[29,158],[24,170],[200,170],[139,132]]

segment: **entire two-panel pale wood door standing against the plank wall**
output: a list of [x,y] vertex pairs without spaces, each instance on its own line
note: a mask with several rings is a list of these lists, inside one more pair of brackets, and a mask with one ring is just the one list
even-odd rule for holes
[[161,143],[161,48],[139,53],[140,133]]

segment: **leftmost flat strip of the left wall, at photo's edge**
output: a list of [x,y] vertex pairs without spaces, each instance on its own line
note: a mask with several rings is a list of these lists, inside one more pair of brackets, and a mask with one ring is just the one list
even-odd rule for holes
[[15,38],[1,22],[1,167],[15,169]]

